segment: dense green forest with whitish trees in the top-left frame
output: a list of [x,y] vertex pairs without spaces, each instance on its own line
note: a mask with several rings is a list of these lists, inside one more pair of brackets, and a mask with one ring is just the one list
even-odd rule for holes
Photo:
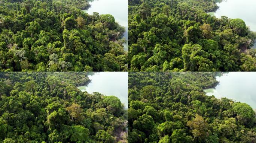
[[127,71],[125,28],[87,0],[0,0],[0,71]]

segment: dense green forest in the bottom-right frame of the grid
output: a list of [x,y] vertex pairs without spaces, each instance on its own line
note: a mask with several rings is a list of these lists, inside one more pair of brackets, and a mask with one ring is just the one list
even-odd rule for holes
[[[129,73],[129,143],[255,143],[255,111],[207,96],[208,72]],[[246,95],[244,95],[246,96]]]

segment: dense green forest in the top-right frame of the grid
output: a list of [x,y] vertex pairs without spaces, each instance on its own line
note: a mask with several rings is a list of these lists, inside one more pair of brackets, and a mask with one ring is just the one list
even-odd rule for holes
[[216,0],[129,0],[129,71],[256,71],[255,32]]

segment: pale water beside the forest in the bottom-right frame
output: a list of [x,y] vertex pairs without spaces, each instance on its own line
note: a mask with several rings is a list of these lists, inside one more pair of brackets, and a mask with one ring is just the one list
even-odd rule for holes
[[206,95],[234,99],[256,109],[256,72],[229,72],[216,79],[219,84],[215,88],[205,89]]

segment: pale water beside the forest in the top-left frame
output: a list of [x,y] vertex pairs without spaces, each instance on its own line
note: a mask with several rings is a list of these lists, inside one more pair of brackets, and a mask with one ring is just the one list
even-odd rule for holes
[[[88,10],[84,10],[89,15],[93,12],[113,15],[115,20],[125,27],[124,37],[128,41],[128,0],[90,0]],[[128,51],[128,42],[124,44],[124,50]]]

